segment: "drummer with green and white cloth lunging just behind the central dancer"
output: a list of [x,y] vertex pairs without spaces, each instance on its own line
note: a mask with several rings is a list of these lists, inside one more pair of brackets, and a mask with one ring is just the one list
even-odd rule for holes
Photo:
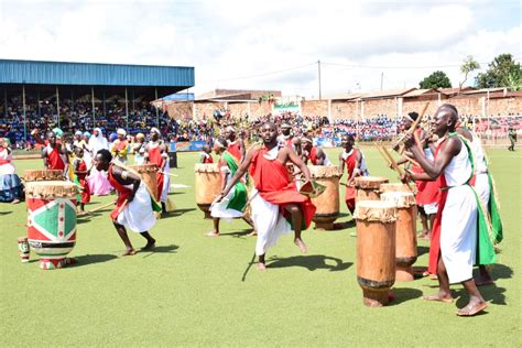
[[[214,141],[214,152],[219,155],[219,173],[221,173],[222,191],[238,171],[238,164],[227,151],[227,140],[218,138]],[[238,181],[229,191],[228,195],[219,203],[213,204],[210,215],[214,220],[214,229],[206,237],[219,237],[219,220],[240,218],[247,205],[247,187],[242,181]]]

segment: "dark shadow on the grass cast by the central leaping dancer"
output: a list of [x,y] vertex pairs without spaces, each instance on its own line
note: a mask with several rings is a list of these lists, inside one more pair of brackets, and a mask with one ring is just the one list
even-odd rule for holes
[[[354,264],[352,262],[342,262],[341,259],[327,255],[298,255],[284,259],[273,257],[268,261],[267,268],[270,269],[303,267],[308,269],[308,271],[328,270],[330,272],[345,271]],[[326,263],[326,261],[334,261],[336,264],[331,265]]]

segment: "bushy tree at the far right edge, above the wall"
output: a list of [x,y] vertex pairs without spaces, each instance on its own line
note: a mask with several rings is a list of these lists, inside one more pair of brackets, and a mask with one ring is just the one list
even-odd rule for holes
[[480,73],[475,78],[478,88],[510,87],[521,88],[522,68],[510,53],[494,57],[488,65],[486,73]]

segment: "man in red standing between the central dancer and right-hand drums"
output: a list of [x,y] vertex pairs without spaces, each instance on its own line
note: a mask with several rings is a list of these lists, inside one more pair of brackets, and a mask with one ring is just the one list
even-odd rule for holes
[[354,148],[355,138],[351,134],[344,134],[341,138],[342,152],[339,154],[339,171],[345,173],[345,165],[348,172],[346,182],[345,202],[350,214],[354,215],[356,209],[356,188],[354,186],[354,178],[356,176],[368,176],[368,167],[366,159],[360,149]]

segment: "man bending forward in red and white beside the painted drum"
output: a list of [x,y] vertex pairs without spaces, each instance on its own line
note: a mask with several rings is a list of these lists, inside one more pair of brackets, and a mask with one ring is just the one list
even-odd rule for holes
[[146,244],[142,250],[151,250],[156,242],[149,233],[149,230],[156,224],[152,206],[153,199],[151,199],[140,176],[123,170],[111,161],[112,155],[108,150],[100,150],[95,156],[96,170],[108,172],[109,182],[118,192],[116,207],[110,214],[110,218],[127,249],[122,255],[133,255],[137,252],[126,228],[139,232],[146,239]]

